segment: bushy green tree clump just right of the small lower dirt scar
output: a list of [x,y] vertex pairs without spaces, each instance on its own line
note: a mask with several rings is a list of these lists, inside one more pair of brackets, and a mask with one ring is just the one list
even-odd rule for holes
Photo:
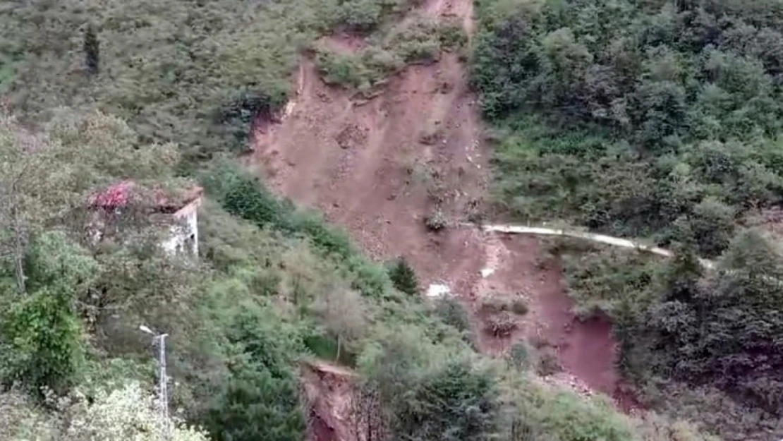
[[492,439],[495,379],[467,356],[444,349],[418,330],[388,329],[359,356],[384,410],[381,425],[394,439]]

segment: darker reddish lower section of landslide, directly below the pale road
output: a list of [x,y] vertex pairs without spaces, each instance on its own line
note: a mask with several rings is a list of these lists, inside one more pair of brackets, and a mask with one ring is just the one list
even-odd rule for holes
[[622,378],[615,369],[618,353],[611,324],[601,318],[576,318],[559,263],[541,250],[539,240],[496,233],[487,233],[485,240],[486,262],[493,272],[474,291],[475,316],[482,320],[480,326],[487,321],[481,305],[488,295],[500,293],[521,299],[529,311],[524,316],[514,316],[517,329],[505,338],[482,331],[480,347],[500,355],[515,342],[526,339],[539,352],[554,352],[565,376],[574,377],[566,384],[577,392],[601,392],[614,398],[622,410],[637,408],[638,403],[622,387]]

